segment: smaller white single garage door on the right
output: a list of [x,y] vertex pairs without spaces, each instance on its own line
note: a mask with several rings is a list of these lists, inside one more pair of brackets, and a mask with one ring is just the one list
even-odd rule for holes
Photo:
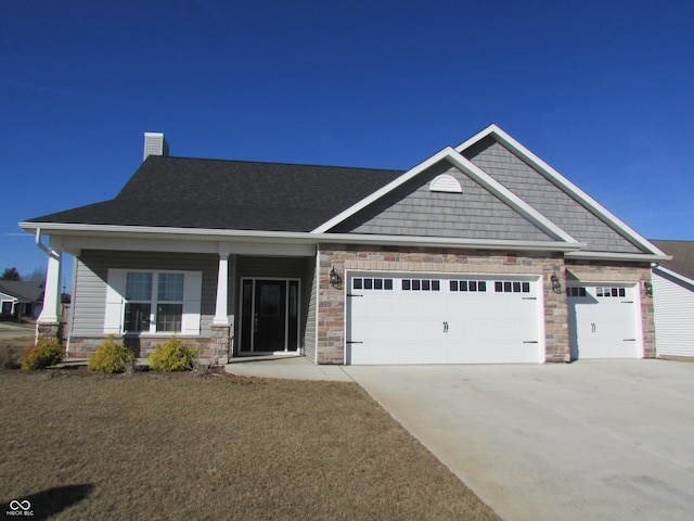
[[643,357],[633,284],[573,285],[566,293],[571,359]]

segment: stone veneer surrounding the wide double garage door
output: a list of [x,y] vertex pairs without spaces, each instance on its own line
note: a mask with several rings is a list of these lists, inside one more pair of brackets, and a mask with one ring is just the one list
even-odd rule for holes
[[[321,245],[319,247],[319,364],[345,361],[345,290],[330,284],[334,267],[343,277],[346,269],[382,271],[428,271],[479,275],[541,275],[544,294],[547,361],[568,361],[568,308],[564,290],[564,259],[560,254],[504,253],[428,247],[385,247],[365,245]],[[553,274],[562,280],[562,291],[551,289]],[[345,281],[343,281],[344,283]]]

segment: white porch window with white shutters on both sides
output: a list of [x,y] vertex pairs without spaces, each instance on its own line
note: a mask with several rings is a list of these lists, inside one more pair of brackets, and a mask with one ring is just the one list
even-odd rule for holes
[[108,270],[104,333],[200,334],[202,274]]

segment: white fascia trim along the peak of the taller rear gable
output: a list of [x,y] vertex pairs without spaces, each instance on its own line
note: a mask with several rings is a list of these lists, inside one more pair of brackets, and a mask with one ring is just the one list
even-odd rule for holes
[[639,244],[640,246],[646,249],[654,255],[665,255],[663,251],[660,251],[657,246],[648,242],[644,237],[642,237],[639,232],[637,232],[633,228],[622,221],[615,214],[605,208],[602,204],[591,198],[583,190],[578,188],[571,181],[569,181],[562,174],[556,171],[550,165],[548,165],[544,161],[538,157],[536,154],[530,152],[527,148],[516,141],[509,134],[503,131],[497,125],[489,125],[487,128],[476,134],[472,138],[467,139],[463,143],[455,147],[455,151],[462,153],[465,149],[470,148],[472,144],[476,143],[483,138],[487,136],[493,135],[499,141],[509,147],[513,152],[522,156],[525,161],[535,166],[540,174],[544,175],[552,182],[558,185],[562,189],[567,191],[570,195],[576,198],[578,201],[583,203],[593,213],[597,214],[597,216],[602,217],[602,219],[611,227],[613,227],[618,232],[627,236],[630,240]]

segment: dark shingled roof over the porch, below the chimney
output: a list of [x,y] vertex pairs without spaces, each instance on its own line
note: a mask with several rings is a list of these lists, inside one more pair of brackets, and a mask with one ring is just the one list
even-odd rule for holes
[[115,199],[29,223],[310,231],[401,174],[151,155]]

